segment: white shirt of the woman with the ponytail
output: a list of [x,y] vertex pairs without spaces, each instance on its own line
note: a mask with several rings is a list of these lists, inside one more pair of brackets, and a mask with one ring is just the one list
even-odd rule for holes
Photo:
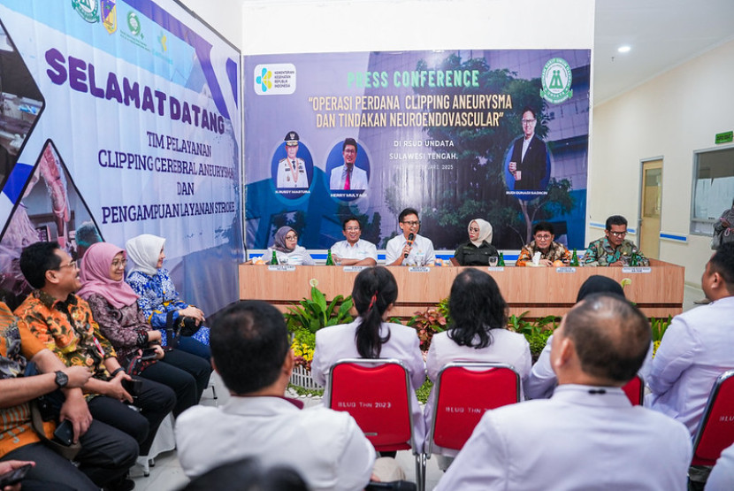
[[[356,327],[362,322],[361,318],[350,324],[330,326],[319,329],[316,332],[316,348],[313,360],[311,360],[311,377],[322,386],[326,387],[329,371],[333,364],[342,358],[361,358],[356,350]],[[384,338],[390,333],[390,339],[382,345],[379,357],[397,358],[408,368],[410,385],[413,393],[411,410],[413,411],[413,433],[418,449],[423,448],[425,440],[425,425],[423,413],[416,397],[416,389],[425,381],[425,364],[420,349],[420,341],[416,330],[402,326],[401,324],[390,324],[383,322],[380,326],[379,335]],[[324,403],[329,401],[329,387],[324,391]]]

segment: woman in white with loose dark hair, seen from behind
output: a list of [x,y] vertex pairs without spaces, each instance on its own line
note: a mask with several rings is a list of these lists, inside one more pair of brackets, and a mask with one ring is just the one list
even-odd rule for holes
[[[520,379],[530,374],[530,345],[525,336],[508,331],[507,303],[496,281],[486,272],[468,269],[459,273],[448,297],[451,324],[443,333],[433,334],[425,364],[428,378],[436,382],[444,365],[455,361],[511,364]],[[522,395],[522,388],[521,388]],[[432,425],[432,390],[425,404],[425,427]],[[456,450],[438,449],[443,456],[455,456]],[[439,459],[446,469],[450,461]]]

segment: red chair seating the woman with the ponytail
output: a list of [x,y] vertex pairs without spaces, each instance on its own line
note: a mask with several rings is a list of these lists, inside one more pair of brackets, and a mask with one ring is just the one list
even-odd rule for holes
[[415,441],[410,418],[408,370],[394,358],[339,360],[329,372],[329,407],[347,411],[378,452],[413,450],[416,483],[422,490],[425,472],[422,442]]

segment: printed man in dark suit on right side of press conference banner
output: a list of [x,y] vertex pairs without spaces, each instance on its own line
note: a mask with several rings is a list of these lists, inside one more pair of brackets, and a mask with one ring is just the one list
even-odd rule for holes
[[538,119],[535,111],[523,108],[523,137],[512,146],[508,171],[515,178],[515,190],[542,190],[540,183],[546,179],[546,143],[535,134]]

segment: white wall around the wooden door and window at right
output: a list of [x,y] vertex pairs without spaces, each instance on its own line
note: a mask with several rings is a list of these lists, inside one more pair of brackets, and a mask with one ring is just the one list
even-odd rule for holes
[[[662,157],[661,231],[687,242],[662,240],[661,259],[684,265],[686,282],[696,286],[711,250],[710,237],[688,233],[693,151],[715,147],[716,133],[734,129],[732,80],[734,42],[728,42],[593,110],[590,221],[621,214],[636,228],[640,161]],[[586,230],[589,240],[602,234]]]

